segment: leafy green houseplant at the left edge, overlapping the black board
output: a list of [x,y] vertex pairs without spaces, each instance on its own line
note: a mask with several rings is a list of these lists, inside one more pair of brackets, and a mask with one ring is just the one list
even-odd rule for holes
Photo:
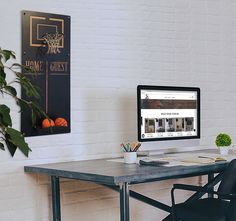
[[[34,125],[37,116],[45,115],[37,104],[37,100],[40,99],[39,91],[21,72],[21,70],[24,70],[25,72],[32,73],[32,70],[18,63],[14,63],[15,58],[13,51],[2,50],[0,48],[0,94],[2,96],[10,96],[21,108],[30,108],[32,110],[32,123]],[[7,81],[7,75],[9,74],[15,75],[14,80],[11,82]],[[27,100],[18,96],[15,89],[16,85],[20,85],[22,90],[25,91],[28,97]],[[0,101],[0,149],[5,150],[5,148],[9,150],[12,157],[17,148],[26,157],[28,157],[29,151],[31,151],[25,141],[24,135],[12,127],[10,108]]]

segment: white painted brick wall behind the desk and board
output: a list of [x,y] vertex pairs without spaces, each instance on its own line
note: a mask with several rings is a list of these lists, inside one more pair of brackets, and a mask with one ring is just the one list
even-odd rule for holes
[[[72,17],[72,133],[27,139],[28,159],[0,153],[1,221],[51,220],[49,179],[24,174],[24,165],[116,156],[121,141],[136,140],[138,84],[202,90],[201,139],[145,143],[143,149],[213,147],[220,131],[236,139],[233,0],[8,0],[0,7],[0,46],[18,57],[21,10]],[[18,109],[4,102],[19,128]],[[168,202],[171,183],[134,188]],[[119,220],[117,197],[97,185],[63,181],[63,220]],[[165,215],[135,200],[131,213],[135,221]]]

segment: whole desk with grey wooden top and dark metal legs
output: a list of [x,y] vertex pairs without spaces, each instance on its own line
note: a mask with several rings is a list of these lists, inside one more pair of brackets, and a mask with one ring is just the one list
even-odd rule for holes
[[[102,159],[25,166],[24,170],[28,173],[51,176],[53,221],[61,221],[60,178],[95,182],[119,191],[120,220],[129,221],[130,196],[169,213],[171,212],[170,206],[129,190],[129,185],[208,175],[209,182],[206,186],[214,187],[214,185],[220,181],[221,172],[224,171],[227,164],[228,162],[218,162],[196,166],[151,167],[139,166],[137,164],[124,164]],[[220,174],[214,177],[212,176],[214,173]],[[202,194],[194,194],[188,200],[194,200],[201,196]],[[165,220],[169,220],[169,218]]]

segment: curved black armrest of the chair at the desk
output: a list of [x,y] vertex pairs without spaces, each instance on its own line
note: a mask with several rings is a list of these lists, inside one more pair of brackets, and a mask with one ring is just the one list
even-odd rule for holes
[[202,186],[194,186],[194,185],[188,185],[188,184],[174,184],[172,191],[174,191],[175,189],[216,194],[220,198],[227,199],[227,200],[236,199],[236,194],[226,194],[226,193],[214,191],[210,188],[206,188]]

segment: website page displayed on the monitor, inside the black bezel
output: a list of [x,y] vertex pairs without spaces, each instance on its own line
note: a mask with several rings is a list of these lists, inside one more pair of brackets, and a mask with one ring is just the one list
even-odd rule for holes
[[141,137],[197,135],[197,92],[141,90]]

